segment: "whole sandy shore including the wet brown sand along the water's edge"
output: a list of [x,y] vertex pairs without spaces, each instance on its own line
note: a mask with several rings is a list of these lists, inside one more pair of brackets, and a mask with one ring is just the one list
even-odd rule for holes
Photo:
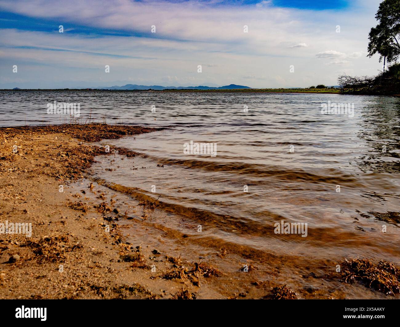
[[176,218],[156,201],[92,178],[96,156],[134,154],[87,142],[155,130],[0,129],[0,222],[32,223],[30,237],[0,234],[0,298],[398,298],[365,282],[344,282],[336,272],[341,262],[330,258],[265,254],[228,242],[220,247],[206,237],[199,246],[192,235],[152,220]]

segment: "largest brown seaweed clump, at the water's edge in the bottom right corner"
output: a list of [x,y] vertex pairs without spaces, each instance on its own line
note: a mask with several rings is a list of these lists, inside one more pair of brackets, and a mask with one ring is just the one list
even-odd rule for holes
[[342,265],[342,281],[345,283],[360,281],[386,295],[400,293],[400,271],[391,262],[382,260],[373,264],[366,259],[344,259]]

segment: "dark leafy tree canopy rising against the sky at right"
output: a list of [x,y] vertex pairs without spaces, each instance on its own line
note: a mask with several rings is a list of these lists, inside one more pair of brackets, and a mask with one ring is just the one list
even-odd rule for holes
[[386,57],[396,61],[400,55],[400,0],[384,0],[375,15],[378,25],[369,34],[368,57],[378,53],[379,61]]

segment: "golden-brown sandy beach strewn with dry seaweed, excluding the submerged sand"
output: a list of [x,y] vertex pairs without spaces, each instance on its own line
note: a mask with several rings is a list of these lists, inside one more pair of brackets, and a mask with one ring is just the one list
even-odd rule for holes
[[[146,237],[140,245],[126,242],[118,220],[129,217],[114,208],[117,198],[106,198],[88,179],[94,156],[115,149],[106,152],[76,138],[98,141],[153,130],[93,124],[1,129],[2,217],[9,225],[31,223],[32,235],[0,236],[0,298],[195,299],[204,276],[226,276],[160,253]],[[81,191],[70,187],[76,181]],[[215,295],[208,290],[203,297]]]

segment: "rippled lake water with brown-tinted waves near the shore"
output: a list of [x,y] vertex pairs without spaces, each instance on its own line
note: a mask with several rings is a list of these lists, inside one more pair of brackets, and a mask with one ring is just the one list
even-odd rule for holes
[[[279,254],[399,262],[400,99],[132,91],[0,94],[2,126],[68,122],[69,116],[46,113],[46,104],[56,100],[79,102],[82,123],[90,118],[168,127],[102,141],[139,155],[99,157],[94,174],[120,192],[159,198],[161,208],[193,226],[201,224],[202,236],[215,242]],[[354,104],[354,117],[321,114],[321,104],[328,101]],[[190,141],[216,143],[217,155],[184,154],[184,143]],[[307,223],[307,237],[275,234],[274,224],[281,220]],[[187,226],[160,223],[190,233]],[[196,228],[191,232],[196,234]]]

